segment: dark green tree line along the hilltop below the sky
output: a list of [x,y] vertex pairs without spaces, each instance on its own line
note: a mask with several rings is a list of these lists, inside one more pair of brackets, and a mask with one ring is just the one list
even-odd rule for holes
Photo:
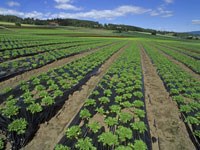
[[76,26],[76,27],[89,27],[89,28],[104,28],[108,30],[122,31],[140,31],[140,32],[155,32],[156,30],[144,29],[136,26],[123,25],[123,24],[101,24],[96,21],[79,20],[79,19],[34,19],[34,18],[20,18],[14,15],[0,15],[0,21],[33,24],[33,25],[52,25],[52,26]]

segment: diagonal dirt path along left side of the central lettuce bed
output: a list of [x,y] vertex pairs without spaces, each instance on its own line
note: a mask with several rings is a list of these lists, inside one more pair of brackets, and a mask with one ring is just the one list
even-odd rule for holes
[[54,146],[63,137],[65,128],[76,116],[84,101],[96,87],[100,79],[107,72],[112,63],[121,55],[127,46],[121,48],[112,55],[99,69],[96,76],[91,77],[88,82],[69,96],[62,109],[48,123],[42,124],[33,140],[24,148],[24,150],[53,150]]

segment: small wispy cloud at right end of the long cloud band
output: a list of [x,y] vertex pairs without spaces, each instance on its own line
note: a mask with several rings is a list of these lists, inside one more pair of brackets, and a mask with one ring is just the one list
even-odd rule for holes
[[158,7],[156,10],[150,12],[151,16],[161,16],[161,17],[172,17],[173,12],[169,10],[165,10],[163,7]]

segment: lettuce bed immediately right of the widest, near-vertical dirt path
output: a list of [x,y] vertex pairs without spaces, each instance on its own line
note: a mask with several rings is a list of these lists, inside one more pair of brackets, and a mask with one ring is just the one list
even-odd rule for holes
[[156,65],[170,96],[177,103],[193,142],[199,147],[200,81],[167,59],[155,46],[148,43],[143,43],[143,46]]

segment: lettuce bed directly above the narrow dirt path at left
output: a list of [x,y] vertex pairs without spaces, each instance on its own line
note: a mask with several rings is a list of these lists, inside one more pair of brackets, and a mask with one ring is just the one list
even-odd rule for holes
[[[71,55],[76,55],[81,52],[106,46],[113,41],[84,41],[82,43],[68,43],[61,46],[52,46],[53,50],[48,50],[44,53],[38,53],[33,56],[21,57],[11,61],[0,63],[0,81],[9,77],[23,73],[28,70],[36,69],[52,63],[56,60],[66,58]],[[68,47],[68,48],[67,48]]]

